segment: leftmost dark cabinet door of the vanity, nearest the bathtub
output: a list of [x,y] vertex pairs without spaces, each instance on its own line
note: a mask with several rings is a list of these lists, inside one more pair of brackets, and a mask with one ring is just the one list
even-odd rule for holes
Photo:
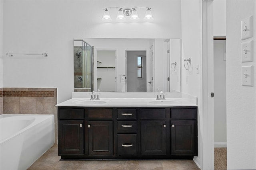
[[84,120],[59,120],[58,154],[84,154]]

